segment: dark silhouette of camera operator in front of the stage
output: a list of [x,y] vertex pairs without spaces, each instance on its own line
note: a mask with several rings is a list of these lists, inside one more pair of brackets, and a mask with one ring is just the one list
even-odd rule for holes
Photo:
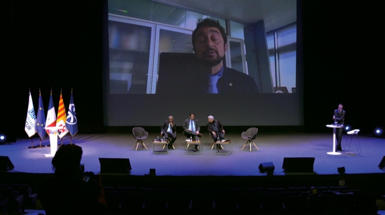
[[101,178],[80,169],[82,147],[63,145],[52,159],[55,173],[42,181],[38,192],[46,215],[105,214]]

